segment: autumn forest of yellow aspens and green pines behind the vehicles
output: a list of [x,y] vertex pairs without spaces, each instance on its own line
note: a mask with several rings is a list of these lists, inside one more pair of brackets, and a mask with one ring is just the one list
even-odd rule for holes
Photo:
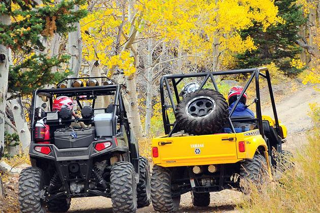
[[[319,10],[311,0],[1,0],[0,149],[26,152],[31,92],[66,77],[122,84],[143,152],[163,133],[163,75],[267,66],[274,84],[318,85]],[[226,95],[246,78],[218,86]]]

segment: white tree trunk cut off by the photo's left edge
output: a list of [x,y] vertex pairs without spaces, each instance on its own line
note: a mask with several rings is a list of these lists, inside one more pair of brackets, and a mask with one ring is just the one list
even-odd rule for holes
[[[0,23],[9,25],[11,23],[10,16],[1,15]],[[0,44],[0,156],[5,148],[5,116],[10,63],[11,49]]]

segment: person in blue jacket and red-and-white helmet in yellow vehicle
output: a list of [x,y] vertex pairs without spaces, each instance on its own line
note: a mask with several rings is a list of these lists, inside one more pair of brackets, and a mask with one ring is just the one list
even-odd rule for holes
[[[229,112],[231,112],[232,108],[236,103],[236,100],[239,98],[242,91],[243,91],[243,87],[241,86],[235,86],[229,90],[229,93],[228,93]],[[247,94],[244,93],[231,117],[254,118],[253,112],[250,109],[248,109],[247,105],[245,105],[247,98],[248,98]]]

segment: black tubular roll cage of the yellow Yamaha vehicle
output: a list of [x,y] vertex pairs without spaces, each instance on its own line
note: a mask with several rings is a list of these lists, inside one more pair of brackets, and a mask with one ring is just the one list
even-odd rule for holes
[[[265,72],[265,74],[263,74],[262,72]],[[271,80],[270,80],[270,74],[269,74],[269,70],[266,67],[262,67],[262,68],[250,68],[250,69],[234,69],[234,70],[227,70],[227,71],[219,71],[219,72],[207,72],[207,73],[191,73],[191,74],[176,74],[176,75],[165,75],[161,78],[160,80],[160,94],[161,94],[161,104],[162,104],[162,117],[163,117],[163,122],[164,122],[164,128],[165,128],[165,133],[168,134],[168,137],[171,136],[172,133],[174,133],[176,131],[177,128],[177,123],[170,123],[169,121],[169,117],[168,117],[168,112],[167,110],[169,108],[172,108],[173,111],[175,112],[176,110],[176,106],[174,103],[174,98],[170,89],[170,84],[169,84],[169,80],[171,80],[172,86],[173,86],[173,90],[174,90],[174,94],[175,94],[175,98],[177,103],[180,103],[180,98],[179,98],[179,92],[177,89],[177,85],[185,78],[195,78],[195,77],[204,77],[201,85],[200,85],[200,89],[203,88],[203,86],[206,84],[206,82],[209,80],[212,81],[214,89],[216,91],[218,90],[218,86],[216,84],[216,81],[214,79],[214,76],[221,76],[221,75],[233,75],[233,74],[251,74],[249,80],[247,81],[247,83],[244,86],[243,91],[240,94],[240,98],[237,99],[234,107],[232,108],[232,110],[229,113],[229,117],[228,117],[228,122],[230,124],[230,127],[232,129],[233,133],[236,133],[235,128],[232,124],[232,120],[231,116],[233,114],[233,112],[235,111],[237,105],[240,102],[241,97],[243,96],[243,94],[246,92],[246,90],[248,89],[249,85],[251,84],[251,82],[254,79],[255,82],[255,92],[257,97],[254,99],[255,102],[255,109],[256,109],[256,115],[257,118],[253,118],[253,119],[237,119],[237,121],[242,121],[244,122],[257,122],[258,124],[258,128],[260,131],[260,134],[264,137],[264,130],[263,130],[263,124],[262,124],[262,113],[261,113],[261,103],[260,103],[260,90],[259,90],[259,77],[263,77],[264,79],[267,80],[268,83],[268,89],[269,89],[269,94],[270,94],[270,99],[271,99],[271,104],[272,104],[272,110],[273,110],[273,115],[274,115],[274,119],[275,119],[275,130],[276,132],[279,134],[280,133],[280,128],[279,128],[279,120],[278,120],[278,115],[277,115],[277,111],[276,111],[276,105],[275,105],[275,101],[274,101],[274,96],[273,96],[273,91],[272,91],[272,85],[271,85]],[[165,102],[165,95],[164,95],[164,90],[165,87],[168,91],[168,96],[170,99],[170,103],[171,105],[166,105]],[[172,128],[171,128],[172,127]]]

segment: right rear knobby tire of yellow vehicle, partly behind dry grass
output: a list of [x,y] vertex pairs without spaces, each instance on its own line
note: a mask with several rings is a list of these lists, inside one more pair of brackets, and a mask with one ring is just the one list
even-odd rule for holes
[[263,185],[267,174],[267,162],[262,155],[255,154],[252,159],[245,160],[240,166],[242,192],[249,193],[250,185],[257,187]]

